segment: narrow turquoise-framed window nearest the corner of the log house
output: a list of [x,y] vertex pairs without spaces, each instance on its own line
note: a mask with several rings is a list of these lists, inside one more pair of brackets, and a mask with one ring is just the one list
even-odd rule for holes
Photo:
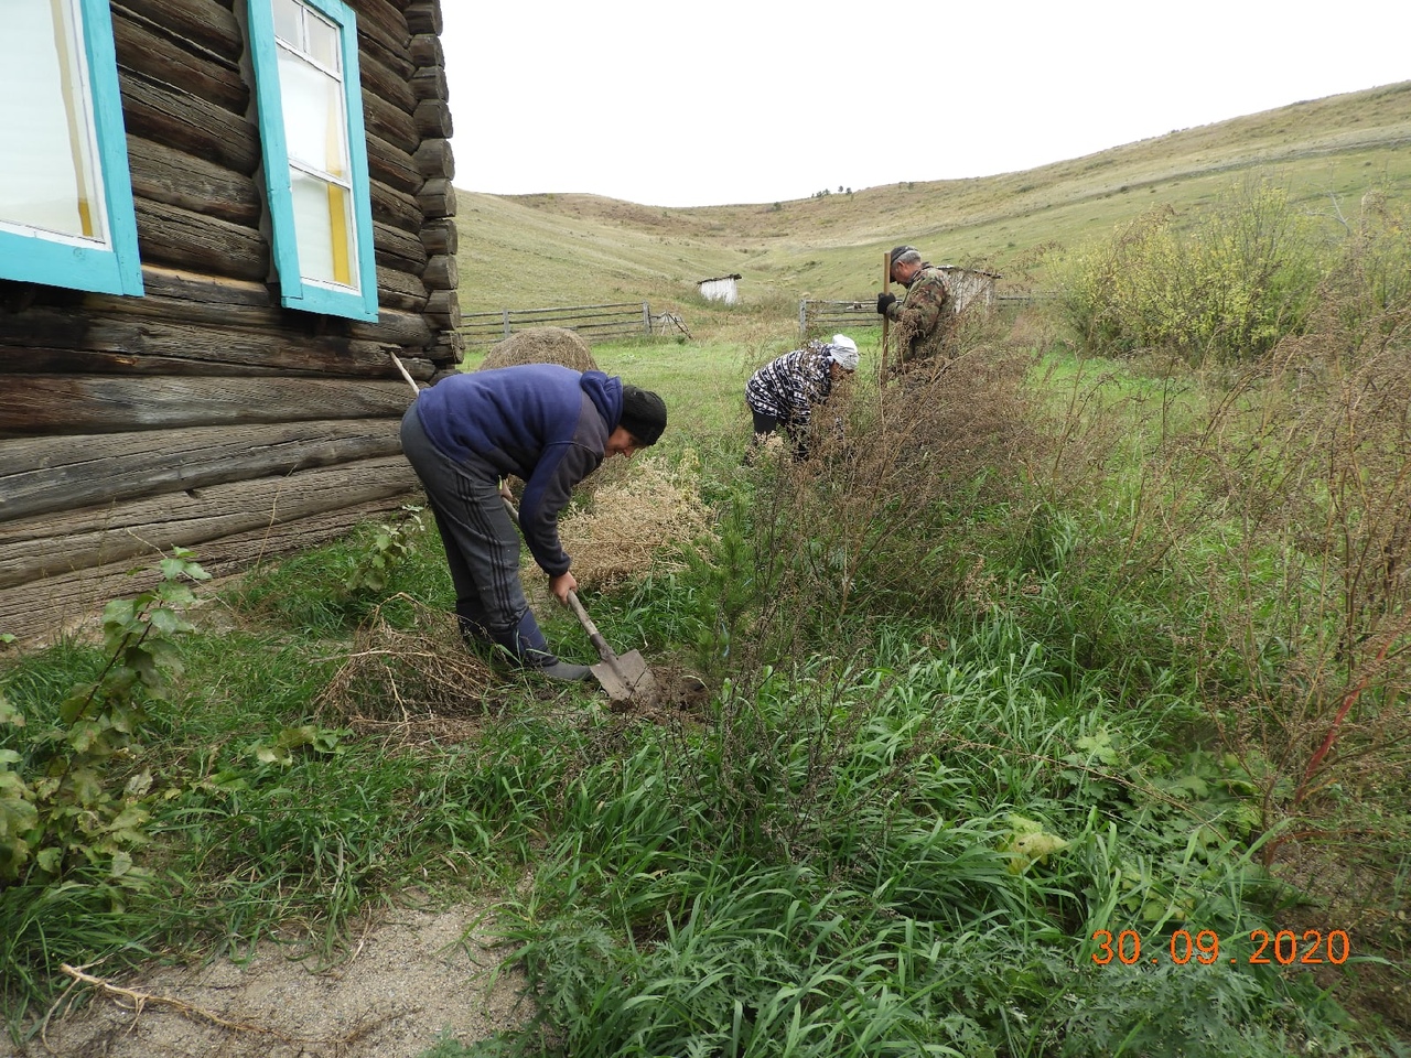
[[375,320],[357,17],[340,0],[250,0],[248,11],[281,299]]

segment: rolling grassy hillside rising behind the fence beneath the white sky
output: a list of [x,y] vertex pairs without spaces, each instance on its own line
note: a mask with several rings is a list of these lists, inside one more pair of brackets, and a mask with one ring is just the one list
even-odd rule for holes
[[1198,206],[1252,175],[1329,217],[1355,214],[1371,188],[1411,196],[1411,82],[1023,172],[789,202],[673,209],[460,190],[460,303],[484,312],[650,300],[653,310],[684,310],[689,322],[706,310],[697,281],[734,272],[744,276],[746,309],[866,298],[879,286],[882,253],[902,241],[935,264],[988,267],[1013,284],[1038,247],[1106,234],[1153,206]]

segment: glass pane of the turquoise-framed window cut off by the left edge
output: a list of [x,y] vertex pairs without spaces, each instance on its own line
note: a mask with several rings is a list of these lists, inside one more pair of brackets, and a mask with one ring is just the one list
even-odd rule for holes
[[0,0],[0,221],[106,238],[72,0]]

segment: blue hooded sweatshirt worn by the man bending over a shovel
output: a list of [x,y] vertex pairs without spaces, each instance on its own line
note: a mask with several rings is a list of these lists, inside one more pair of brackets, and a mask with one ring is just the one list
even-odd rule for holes
[[529,552],[550,577],[566,573],[559,512],[602,463],[622,418],[622,379],[557,364],[449,375],[422,389],[416,416],[450,458],[477,456],[499,477],[523,480],[519,529]]

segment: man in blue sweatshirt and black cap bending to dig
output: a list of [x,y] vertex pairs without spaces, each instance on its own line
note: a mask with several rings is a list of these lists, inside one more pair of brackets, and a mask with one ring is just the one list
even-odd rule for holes
[[525,482],[519,529],[563,605],[579,587],[559,542],[559,512],[608,456],[655,444],[666,403],[601,371],[525,364],[449,375],[422,389],[402,418],[402,451],[426,488],[456,585],[467,643],[501,646],[552,680],[583,680],[586,664],[549,649],[519,581],[519,533],[499,482]]

